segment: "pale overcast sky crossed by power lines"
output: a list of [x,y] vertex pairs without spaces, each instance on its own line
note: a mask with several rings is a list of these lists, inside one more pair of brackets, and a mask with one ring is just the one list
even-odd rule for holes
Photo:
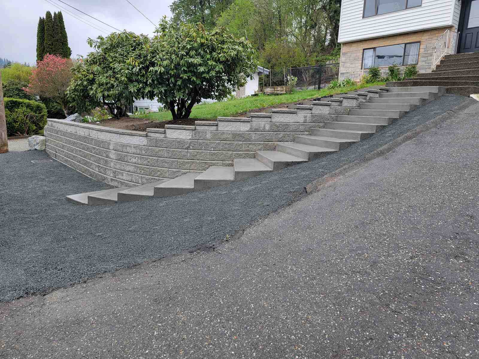
[[[106,22],[120,30],[126,29],[137,34],[152,34],[154,26],[145,19],[126,0],[62,0],[78,10]],[[51,3],[57,4],[57,6]],[[169,5],[172,0],[130,0],[139,11],[143,12],[152,22],[158,23],[163,15],[171,16]],[[58,0],[0,0],[0,57],[11,61],[29,62],[36,61],[36,29],[38,18],[45,16],[46,11],[53,15],[54,11],[61,10],[68,34],[68,45],[71,56],[87,55],[91,48],[87,45],[87,38],[106,35],[94,29],[90,24],[85,24],[75,19],[68,12],[77,17],[96,24],[97,27],[116,31],[111,27],[93,20],[68,5]]]

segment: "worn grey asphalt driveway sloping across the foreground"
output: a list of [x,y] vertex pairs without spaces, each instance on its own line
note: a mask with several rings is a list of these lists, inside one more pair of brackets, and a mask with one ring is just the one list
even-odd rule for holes
[[0,358],[479,358],[478,113],[214,250],[0,304]]

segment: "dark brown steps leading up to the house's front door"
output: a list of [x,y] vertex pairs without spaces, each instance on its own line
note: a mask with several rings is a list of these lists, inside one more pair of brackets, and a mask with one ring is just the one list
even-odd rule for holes
[[447,93],[457,95],[479,93],[479,52],[446,55],[432,72],[405,81],[388,82],[386,86],[443,86]]

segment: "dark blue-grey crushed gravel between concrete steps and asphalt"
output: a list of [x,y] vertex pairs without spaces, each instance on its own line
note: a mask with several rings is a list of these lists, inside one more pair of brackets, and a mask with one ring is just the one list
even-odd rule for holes
[[369,139],[305,164],[208,191],[111,206],[66,202],[66,195],[110,187],[56,161],[30,162],[48,159],[44,152],[1,155],[0,301],[218,243],[304,197],[304,187],[314,179],[463,101],[472,100],[442,96]]

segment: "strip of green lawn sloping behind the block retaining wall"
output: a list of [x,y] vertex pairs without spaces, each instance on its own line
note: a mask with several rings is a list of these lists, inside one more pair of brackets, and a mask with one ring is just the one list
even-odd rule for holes
[[[314,99],[337,93],[344,93],[370,86],[384,85],[384,82],[375,82],[369,84],[361,84],[350,87],[342,87],[334,90],[303,90],[285,95],[262,95],[249,96],[243,99],[235,99],[230,101],[221,101],[207,103],[204,105],[196,105],[193,107],[190,118],[216,119],[217,117],[234,117],[240,113],[248,112],[254,109],[279,105],[282,103],[292,103],[301,100]],[[151,112],[141,117],[148,118],[152,121],[171,120],[171,112]]]

